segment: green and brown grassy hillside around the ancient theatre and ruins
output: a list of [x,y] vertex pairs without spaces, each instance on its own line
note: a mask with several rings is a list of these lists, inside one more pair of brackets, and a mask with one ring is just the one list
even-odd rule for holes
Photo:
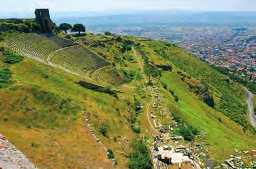
[[[132,140],[141,139],[143,134],[144,144],[152,146],[155,130],[148,116],[156,111],[149,79],[159,88],[161,107],[169,107],[169,112],[186,124],[206,132],[205,140],[195,142],[204,144],[207,157],[216,159],[215,165],[229,158],[234,148],[255,148],[244,89],[179,47],[119,35],[87,34],[71,39],[121,71],[126,83],[110,87],[122,93],[115,96],[83,88],[76,82],[89,80],[29,58],[4,63],[0,52],[0,77],[6,75],[0,89],[0,133],[37,167],[111,168],[111,160],[84,122],[82,112],[86,112],[96,136],[114,152],[115,167],[126,168],[129,157],[124,154],[136,147],[130,147]],[[160,70],[157,65],[170,65],[172,71]],[[4,68],[11,73],[1,71]],[[208,89],[214,107],[190,88],[191,83]],[[137,109],[140,103],[144,107],[141,110]],[[163,124],[170,123],[165,117],[159,118]]]

